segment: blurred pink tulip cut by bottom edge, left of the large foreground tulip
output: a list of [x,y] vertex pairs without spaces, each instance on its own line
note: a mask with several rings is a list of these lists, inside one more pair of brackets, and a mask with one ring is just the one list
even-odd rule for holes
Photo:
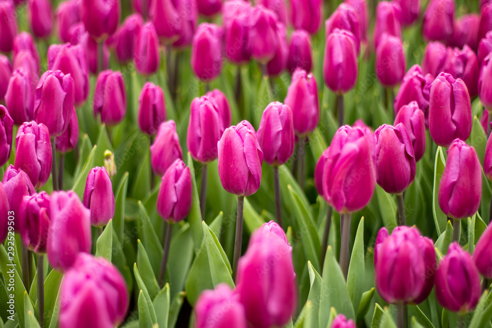
[[245,309],[229,285],[202,292],[195,305],[196,328],[246,328]]

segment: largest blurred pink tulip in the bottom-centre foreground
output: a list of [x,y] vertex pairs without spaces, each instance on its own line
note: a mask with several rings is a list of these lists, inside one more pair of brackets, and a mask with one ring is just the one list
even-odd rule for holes
[[257,328],[282,327],[296,309],[296,274],[292,247],[277,234],[256,237],[239,259],[236,291],[246,320]]

